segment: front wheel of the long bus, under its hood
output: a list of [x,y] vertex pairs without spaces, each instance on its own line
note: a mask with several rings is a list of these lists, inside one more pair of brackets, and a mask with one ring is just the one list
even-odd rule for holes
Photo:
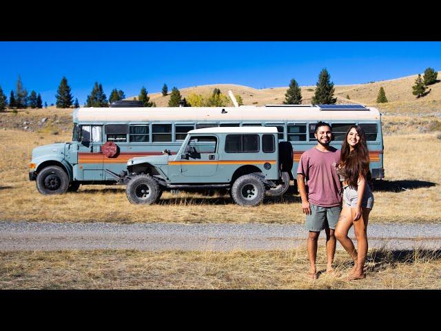
[[50,165],[39,172],[36,183],[43,195],[63,194],[69,188],[69,177],[59,166]]

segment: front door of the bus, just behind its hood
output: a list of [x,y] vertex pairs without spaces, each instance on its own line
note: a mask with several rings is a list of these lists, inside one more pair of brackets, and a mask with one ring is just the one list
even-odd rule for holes
[[103,180],[103,126],[81,126],[78,144],[78,165],[83,172],[83,181]]

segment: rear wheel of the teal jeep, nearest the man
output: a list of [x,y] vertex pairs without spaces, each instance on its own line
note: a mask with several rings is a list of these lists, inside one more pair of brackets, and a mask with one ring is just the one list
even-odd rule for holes
[[240,176],[231,191],[233,200],[238,205],[258,205],[265,197],[265,185],[254,174]]

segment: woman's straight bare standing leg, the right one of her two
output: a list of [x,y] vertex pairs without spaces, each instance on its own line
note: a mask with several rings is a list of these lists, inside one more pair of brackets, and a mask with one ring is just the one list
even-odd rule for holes
[[[351,208],[352,219],[353,215],[356,213],[355,208]],[[353,221],[353,231],[356,234],[357,242],[358,242],[358,259],[356,268],[353,269],[351,274],[349,275],[350,279],[362,279],[365,278],[365,272],[363,269],[365,268],[365,261],[367,257],[367,222],[369,221],[369,212],[371,212],[370,208],[362,208],[362,216],[358,221]]]

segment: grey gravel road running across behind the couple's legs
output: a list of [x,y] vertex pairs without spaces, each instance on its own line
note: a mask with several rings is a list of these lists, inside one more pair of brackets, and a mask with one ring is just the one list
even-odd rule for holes
[[[349,232],[353,237],[353,232]],[[306,245],[303,225],[1,222],[0,251],[14,250],[280,250]],[[324,243],[320,234],[319,245]],[[369,248],[441,248],[438,224],[369,225]],[[342,249],[340,244],[338,249]]]

